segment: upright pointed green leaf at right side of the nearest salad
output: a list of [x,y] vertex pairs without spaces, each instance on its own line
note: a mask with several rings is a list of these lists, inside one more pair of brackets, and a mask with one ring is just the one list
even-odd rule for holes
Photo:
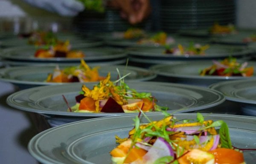
[[222,123],[221,128],[219,129],[221,147],[232,149],[232,143],[230,140],[230,133],[228,126],[225,122]]

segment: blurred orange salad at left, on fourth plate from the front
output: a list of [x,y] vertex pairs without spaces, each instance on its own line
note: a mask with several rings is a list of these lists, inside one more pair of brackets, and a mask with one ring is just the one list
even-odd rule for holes
[[68,40],[37,49],[34,55],[36,58],[84,58],[82,51],[71,50]]

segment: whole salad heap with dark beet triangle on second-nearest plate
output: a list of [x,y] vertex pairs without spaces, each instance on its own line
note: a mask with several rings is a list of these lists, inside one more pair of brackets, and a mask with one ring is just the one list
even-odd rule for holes
[[93,89],[89,89],[85,84],[82,85],[82,91],[76,96],[76,105],[68,110],[70,112],[115,113],[139,112],[140,109],[144,112],[167,109],[158,106],[156,104],[157,99],[151,93],[139,93],[135,89],[131,89],[124,82],[125,76],[114,82],[110,78],[111,74],[108,73],[107,77],[95,85]]

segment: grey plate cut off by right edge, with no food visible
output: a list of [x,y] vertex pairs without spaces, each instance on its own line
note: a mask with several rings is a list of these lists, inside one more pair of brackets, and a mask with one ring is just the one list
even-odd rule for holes
[[255,79],[218,82],[209,88],[222,92],[229,101],[239,102],[245,115],[256,116]]

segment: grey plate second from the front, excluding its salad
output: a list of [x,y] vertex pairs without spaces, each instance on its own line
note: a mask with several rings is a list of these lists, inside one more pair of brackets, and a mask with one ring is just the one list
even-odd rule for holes
[[[86,86],[93,88],[95,84],[87,83]],[[225,101],[220,92],[203,87],[159,82],[127,82],[127,84],[130,88],[136,89],[137,92],[150,92],[152,96],[157,98],[158,105],[169,107],[168,112],[207,109]],[[7,98],[6,102],[16,109],[45,115],[103,117],[129,114],[68,112],[67,104],[62,95],[67,99],[69,106],[73,106],[76,104],[75,96],[81,91],[81,86],[81,83],[38,86],[15,92]]]

